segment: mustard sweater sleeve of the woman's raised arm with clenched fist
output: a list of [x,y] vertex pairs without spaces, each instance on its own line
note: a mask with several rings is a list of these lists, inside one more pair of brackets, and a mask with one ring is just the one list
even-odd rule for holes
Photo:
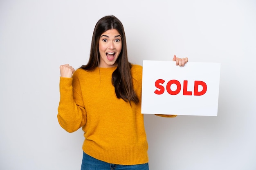
[[[79,83],[74,78],[60,78],[60,102],[58,105],[58,122],[67,132],[77,131],[86,123],[86,111],[83,105]],[[73,84],[73,86],[72,86]],[[81,91],[81,89],[80,89]]]

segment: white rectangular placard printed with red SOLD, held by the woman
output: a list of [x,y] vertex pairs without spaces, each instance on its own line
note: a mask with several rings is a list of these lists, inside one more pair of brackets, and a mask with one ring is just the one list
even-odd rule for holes
[[145,60],[141,113],[217,116],[219,84],[220,63]]

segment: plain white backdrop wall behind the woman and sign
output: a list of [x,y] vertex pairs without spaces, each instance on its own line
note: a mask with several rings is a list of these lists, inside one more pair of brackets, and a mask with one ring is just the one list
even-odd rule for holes
[[217,117],[145,115],[150,170],[255,170],[255,9],[254,0],[0,0],[0,169],[80,169],[83,133],[56,118],[59,65],[86,64],[96,22],[113,14],[132,63],[173,54],[221,63]]

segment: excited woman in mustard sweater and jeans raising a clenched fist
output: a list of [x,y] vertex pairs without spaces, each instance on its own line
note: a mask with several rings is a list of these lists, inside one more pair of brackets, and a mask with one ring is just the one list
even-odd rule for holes
[[[176,58],[184,66],[187,58]],[[148,170],[148,143],[141,114],[142,67],[128,62],[122,23],[101,18],[92,35],[90,59],[76,71],[60,66],[58,122],[84,131],[81,170]],[[158,115],[175,117],[175,115]]]

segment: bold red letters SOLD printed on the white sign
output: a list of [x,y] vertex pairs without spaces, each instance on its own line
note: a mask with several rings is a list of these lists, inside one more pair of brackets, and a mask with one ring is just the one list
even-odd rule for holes
[[[158,79],[157,81],[155,81],[155,87],[157,87],[158,89],[155,90],[155,94],[163,94],[164,93],[164,80],[163,79]],[[175,91],[173,91],[171,89],[171,85],[175,84],[177,86],[177,89]],[[199,85],[202,86],[202,91],[198,92],[198,87]],[[192,96],[192,92],[188,91],[188,81],[184,80],[183,81],[183,95],[189,95]],[[179,81],[177,80],[170,80],[168,81],[168,83],[166,84],[166,91],[168,92],[168,94],[171,95],[177,95],[180,93],[181,91],[181,84]],[[202,96],[206,93],[207,91],[207,85],[206,83],[204,83],[203,81],[195,81],[194,82],[194,96]]]

